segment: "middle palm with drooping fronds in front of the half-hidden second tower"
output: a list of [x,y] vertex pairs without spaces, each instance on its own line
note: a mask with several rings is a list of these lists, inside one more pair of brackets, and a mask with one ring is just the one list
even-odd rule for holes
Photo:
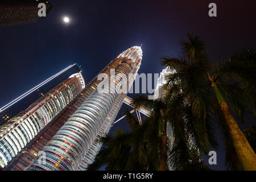
[[[152,137],[158,136],[162,140],[159,142],[160,171],[168,167],[174,170],[186,168],[192,149],[208,154],[211,147],[217,148],[212,111],[208,110],[204,120],[196,117],[192,105],[180,90],[181,85],[176,82],[169,86],[163,99],[148,100],[146,96],[135,96],[133,101],[135,109],[142,105],[151,109],[149,126],[155,133]],[[167,128],[171,128],[172,133],[167,133]]]

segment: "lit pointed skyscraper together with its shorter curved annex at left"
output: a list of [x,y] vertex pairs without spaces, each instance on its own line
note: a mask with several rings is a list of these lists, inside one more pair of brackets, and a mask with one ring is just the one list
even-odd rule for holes
[[85,170],[101,148],[98,139],[108,134],[126,97],[116,84],[127,84],[129,90],[141,60],[142,49],[135,46],[102,69],[109,81],[111,69],[115,76],[123,75],[110,81],[112,92],[97,89],[101,82],[97,76],[85,86],[77,73],[0,127],[1,166],[27,171]]

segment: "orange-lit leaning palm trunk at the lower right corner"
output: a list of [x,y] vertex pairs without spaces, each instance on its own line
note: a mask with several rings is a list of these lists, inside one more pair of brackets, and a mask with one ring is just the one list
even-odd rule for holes
[[256,171],[256,155],[247,141],[245,135],[238,127],[232,114],[230,113],[229,107],[221,96],[220,91],[215,83],[212,83],[214,93],[218,100],[218,105],[225,119],[226,125],[228,126],[229,134],[232,138],[234,148],[236,150],[238,159],[240,160],[243,169],[246,171]]

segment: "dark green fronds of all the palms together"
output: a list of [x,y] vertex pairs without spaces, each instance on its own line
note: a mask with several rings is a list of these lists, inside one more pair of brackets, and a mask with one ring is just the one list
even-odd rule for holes
[[[162,138],[168,135],[167,126],[172,131],[167,137],[166,151],[172,169],[209,170],[200,160],[199,151],[208,154],[217,149],[216,126],[225,142],[227,169],[241,169],[212,84],[217,85],[220,96],[241,121],[245,112],[256,116],[255,48],[244,49],[212,65],[199,36],[188,34],[188,41],[183,40],[180,44],[183,56],[161,57],[160,64],[164,68],[176,70],[167,77],[164,98],[148,100],[147,96],[136,96],[134,109],[147,106],[151,109],[150,117],[139,125],[127,111],[131,132],[117,130],[114,137],[102,139],[104,146],[89,169],[99,169],[105,164],[108,170],[159,169]],[[245,134],[255,150],[255,127],[246,130]]]

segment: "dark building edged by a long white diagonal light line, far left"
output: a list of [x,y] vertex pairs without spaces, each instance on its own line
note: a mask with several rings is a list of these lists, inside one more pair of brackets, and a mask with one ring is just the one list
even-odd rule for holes
[[26,110],[28,106],[40,97],[44,96],[44,94],[49,92],[49,90],[53,89],[56,85],[60,84],[60,82],[67,80],[69,76],[78,72],[81,72],[79,65],[69,65],[67,68],[28,90],[28,92],[22,94],[22,96],[19,96],[5,106],[0,107],[0,126],[5,124],[20,111]]

